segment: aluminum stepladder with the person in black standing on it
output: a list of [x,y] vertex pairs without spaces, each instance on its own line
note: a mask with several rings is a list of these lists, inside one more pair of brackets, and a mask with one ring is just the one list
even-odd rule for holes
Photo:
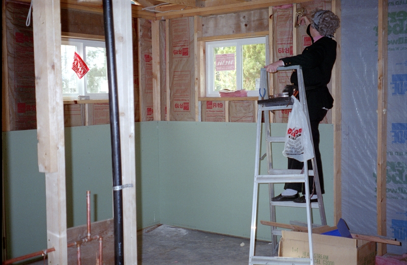
[[[296,70],[297,77],[298,77],[298,88],[300,92],[300,103],[307,117],[307,124],[310,132],[310,139],[312,141],[312,134],[311,134],[311,126],[309,121],[308,115],[308,107],[305,95],[305,86],[302,74],[302,68],[300,65],[295,65],[292,67],[279,67],[278,71],[285,71],[285,70]],[[268,78],[266,69],[261,69],[260,72],[260,91],[266,88],[266,95],[263,97],[268,98]],[[261,93],[260,93],[261,94]],[[260,97],[259,97],[260,100]],[[321,216],[321,224],[326,225],[326,217],[325,217],[325,208],[324,202],[321,193],[321,186],[319,184],[318,179],[318,172],[316,168],[316,160],[315,157],[312,158],[312,170],[308,170],[308,163],[304,162],[303,170],[281,170],[281,169],[274,169],[273,168],[273,159],[272,159],[272,143],[284,143],[285,137],[275,137],[271,136],[271,127],[270,127],[270,111],[278,111],[284,109],[292,109],[293,103],[290,105],[282,105],[275,104],[275,103],[260,103],[258,104],[257,110],[257,136],[256,136],[256,154],[255,154],[255,172],[254,172],[254,185],[253,185],[253,206],[252,206],[252,217],[251,217],[251,233],[250,233],[250,252],[249,252],[249,265],[254,264],[265,264],[265,265],[282,265],[282,264],[289,264],[289,265],[297,265],[297,264],[308,264],[314,265],[313,262],[313,247],[312,247],[312,208],[319,208],[319,215]],[[260,145],[261,145],[261,116],[264,112],[264,123],[265,123],[265,130],[266,134],[264,140],[266,142],[266,156],[268,160],[268,175],[260,175],[260,160],[264,158],[260,155]],[[312,150],[315,154],[314,149]],[[261,158],[260,158],[261,157]],[[287,182],[303,182],[305,183],[305,191],[306,194],[310,194],[309,186],[308,186],[308,176],[314,176],[315,181],[315,191],[318,198],[317,203],[310,203],[309,195],[306,195],[306,203],[305,204],[298,204],[294,202],[272,202],[271,198],[275,196],[274,194],[274,184],[275,183],[287,183]],[[307,211],[307,226],[308,226],[308,242],[309,242],[309,258],[292,258],[292,257],[276,257],[276,256],[255,256],[254,255],[254,244],[255,244],[255,236],[256,236],[256,225],[257,225],[257,200],[258,200],[258,186],[259,184],[269,184],[269,202],[270,202],[270,220],[272,222],[276,222],[276,206],[287,206],[287,207],[300,207],[306,208]],[[277,229],[277,227],[271,226],[271,234],[272,234],[272,247],[273,247],[273,254],[275,254],[275,250],[277,247],[277,236],[281,236],[281,229]]]

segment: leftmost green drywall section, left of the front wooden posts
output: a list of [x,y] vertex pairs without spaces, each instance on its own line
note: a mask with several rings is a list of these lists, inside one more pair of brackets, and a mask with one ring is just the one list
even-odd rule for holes
[[38,171],[37,131],[2,133],[7,257],[46,248],[45,174]]

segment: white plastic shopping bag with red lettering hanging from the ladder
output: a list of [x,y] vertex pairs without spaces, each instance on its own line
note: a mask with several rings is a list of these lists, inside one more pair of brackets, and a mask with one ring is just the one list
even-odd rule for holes
[[288,115],[283,155],[304,162],[314,157],[307,117],[301,103],[294,98],[293,110]]

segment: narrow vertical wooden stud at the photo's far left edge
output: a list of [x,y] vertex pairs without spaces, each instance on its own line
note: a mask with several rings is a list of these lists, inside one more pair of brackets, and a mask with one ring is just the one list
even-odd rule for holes
[[7,63],[6,1],[2,1],[2,130],[10,131],[9,74]]

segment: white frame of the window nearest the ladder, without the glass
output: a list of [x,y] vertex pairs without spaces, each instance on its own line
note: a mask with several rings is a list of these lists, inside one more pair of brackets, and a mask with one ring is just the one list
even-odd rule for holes
[[[207,97],[220,97],[218,91],[214,91],[215,80],[214,80],[214,48],[225,47],[225,46],[236,46],[236,89],[243,89],[243,66],[242,66],[242,46],[250,44],[265,44],[266,48],[266,62],[269,57],[268,49],[268,38],[267,36],[258,36],[258,37],[248,37],[241,39],[230,39],[230,40],[218,40],[218,41],[208,41],[205,43],[206,49],[206,96]],[[258,96],[258,91],[256,90],[247,90],[247,96]]]

